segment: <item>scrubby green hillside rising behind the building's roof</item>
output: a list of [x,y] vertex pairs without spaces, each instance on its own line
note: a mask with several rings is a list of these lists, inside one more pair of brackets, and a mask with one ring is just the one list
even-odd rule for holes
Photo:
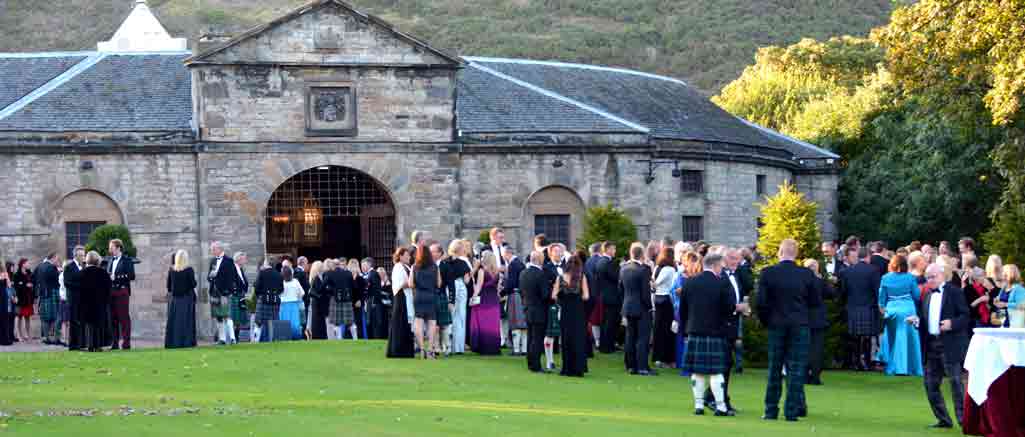
[[[308,0],[150,0],[173,36],[238,30]],[[0,51],[93,49],[133,0],[0,0]],[[891,0],[356,0],[457,54],[627,67],[713,94],[757,47],[866,35]]]

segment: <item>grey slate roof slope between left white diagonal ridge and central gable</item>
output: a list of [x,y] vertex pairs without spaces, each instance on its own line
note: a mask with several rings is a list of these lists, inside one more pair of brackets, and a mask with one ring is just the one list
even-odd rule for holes
[[[0,130],[192,130],[192,85],[183,65],[188,53],[92,56],[99,56],[95,65],[0,118]],[[0,70],[0,77],[27,74],[11,68]]]

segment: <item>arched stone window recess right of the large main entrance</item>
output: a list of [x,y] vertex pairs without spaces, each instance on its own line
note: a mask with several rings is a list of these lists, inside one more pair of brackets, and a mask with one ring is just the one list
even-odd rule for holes
[[545,234],[549,242],[576,247],[576,239],[583,232],[586,206],[576,191],[564,186],[544,187],[527,198],[524,207],[524,226],[530,236]]

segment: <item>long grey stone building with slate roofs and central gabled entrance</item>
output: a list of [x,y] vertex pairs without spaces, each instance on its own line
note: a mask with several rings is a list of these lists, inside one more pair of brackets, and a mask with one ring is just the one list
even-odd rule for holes
[[680,80],[460,57],[335,0],[191,49],[140,0],[96,51],[0,53],[0,250],[38,259],[126,225],[139,336],[161,334],[172,250],[205,276],[214,240],[253,265],[391,264],[413,230],[573,245],[585,208],[612,203],[642,238],[751,244],[755,202],[784,181],[835,234],[836,155]]

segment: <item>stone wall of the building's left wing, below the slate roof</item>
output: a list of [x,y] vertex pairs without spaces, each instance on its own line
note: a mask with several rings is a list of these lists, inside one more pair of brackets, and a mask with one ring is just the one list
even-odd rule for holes
[[[134,334],[163,336],[169,254],[183,248],[197,254],[196,158],[193,154],[9,155],[0,173],[0,250],[3,256],[32,259],[55,251],[64,259],[65,222],[94,220],[84,205],[66,207],[65,198],[88,190],[119,209],[138,251],[132,284]],[[91,169],[82,169],[90,161]],[[88,216],[77,216],[77,212]]]

